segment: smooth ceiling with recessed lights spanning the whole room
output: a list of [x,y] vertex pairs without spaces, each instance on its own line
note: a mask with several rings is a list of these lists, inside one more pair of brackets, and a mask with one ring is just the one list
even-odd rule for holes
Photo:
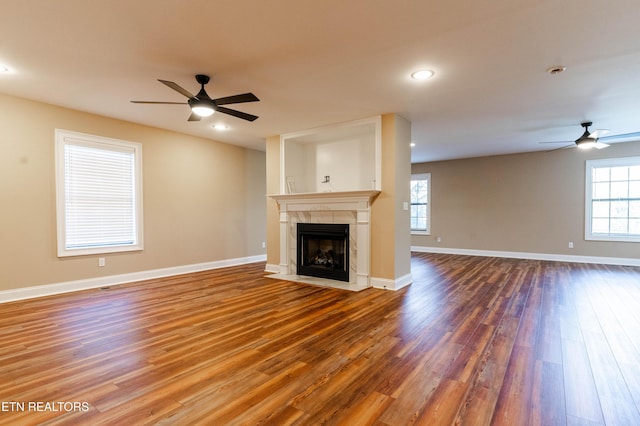
[[[412,161],[546,150],[579,123],[640,131],[638,0],[2,0],[0,92],[264,149],[265,138],[381,113],[412,123]],[[564,65],[550,75],[546,69]],[[417,82],[420,68],[435,77]],[[157,79],[212,98],[187,122]],[[37,119],[34,117],[34,120]],[[218,132],[211,124],[224,122]],[[70,129],[73,130],[73,129]]]

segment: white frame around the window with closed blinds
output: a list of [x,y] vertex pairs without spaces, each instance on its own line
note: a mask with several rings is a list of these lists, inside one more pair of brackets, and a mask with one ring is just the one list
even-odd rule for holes
[[[70,248],[67,246],[66,229],[66,191],[65,191],[65,146],[84,146],[105,151],[133,152],[133,191],[134,191],[134,241],[132,244],[104,244]],[[56,225],[58,257],[85,256],[143,250],[143,211],[142,211],[142,144],[124,140],[106,138],[55,129],[55,186],[56,186]]]

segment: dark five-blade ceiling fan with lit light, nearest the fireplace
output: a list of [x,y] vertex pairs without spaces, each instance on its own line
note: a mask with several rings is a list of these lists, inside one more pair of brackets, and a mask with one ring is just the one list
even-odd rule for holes
[[160,80],[158,81],[165,86],[170,87],[181,95],[189,98],[187,102],[157,102],[157,101],[131,101],[134,104],[168,104],[168,105],[189,105],[191,108],[191,115],[187,121],[200,121],[202,117],[208,117],[214,112],[218,111],[223,114],[229,114],[234,117],[241,118],[247,121],[254,121],[258,118],[257,115],[247,114],[246,112],[236,111],[223,107],[221,105],[239,104],[243,102],[257,102],[260,99],[253,93],[243,93],[241,95],[227,96],[224,98],[211,99],[207,92],[204,90],[204,85],[209,82],[209,76],[204,74],[196,75],[196,81],[200,84],[200,91],[197,95],[192,95],[188,90],[185,90],[173,81]]

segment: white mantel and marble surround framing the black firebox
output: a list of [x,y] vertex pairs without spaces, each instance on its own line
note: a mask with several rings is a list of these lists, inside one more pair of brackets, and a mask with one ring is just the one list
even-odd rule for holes
[[[270,195],[280,211],[279,273],[272,278],[351,291],[371,286],[371,204],[377,190]],[[296,274],[297,224],[349,224],[349,282]]]

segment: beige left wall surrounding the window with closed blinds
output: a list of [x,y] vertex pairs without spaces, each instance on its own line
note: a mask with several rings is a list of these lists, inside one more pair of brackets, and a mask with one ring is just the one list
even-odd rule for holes
[[[142,252],[56,257],[54,129],[143,145]],[[0,290],[265,252],[264,153],[0,95]]]

